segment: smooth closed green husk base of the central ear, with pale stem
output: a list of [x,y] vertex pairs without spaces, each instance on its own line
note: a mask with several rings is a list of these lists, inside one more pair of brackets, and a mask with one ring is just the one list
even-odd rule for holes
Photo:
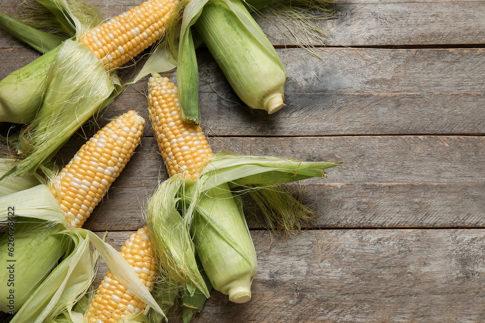
[[208,189],[195,207],[190,228],[212,287],[229,295],[231,302],[245,303],[251,299],[258,262],[236,199],[241,198],[234,197],[226,183]]

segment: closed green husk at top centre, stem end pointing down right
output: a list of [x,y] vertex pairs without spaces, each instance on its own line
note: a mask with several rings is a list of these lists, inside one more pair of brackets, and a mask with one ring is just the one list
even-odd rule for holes
[[284,106],[285,67],[241,0],[210,0],[194,27],[245,104],[269,114]]

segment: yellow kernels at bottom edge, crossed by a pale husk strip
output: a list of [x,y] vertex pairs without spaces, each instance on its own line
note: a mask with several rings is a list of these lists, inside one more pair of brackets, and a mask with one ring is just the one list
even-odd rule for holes
[[[156,266],[148,228],[132,233],[120,253],[151,292]],[[89,323],[116,323],[128,314],[142,312],[145,307],[146,304],[120,285],[108,270],[91,300],[86,319]]]

